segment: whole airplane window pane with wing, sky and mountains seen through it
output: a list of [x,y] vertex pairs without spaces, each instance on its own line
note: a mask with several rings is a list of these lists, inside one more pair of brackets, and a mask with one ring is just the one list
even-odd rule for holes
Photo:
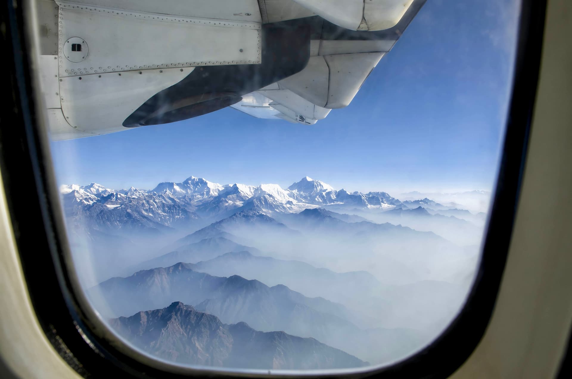
[[518,1],[35,3],[76,290],[105,338],[189,368],[363,369],[462,309]]

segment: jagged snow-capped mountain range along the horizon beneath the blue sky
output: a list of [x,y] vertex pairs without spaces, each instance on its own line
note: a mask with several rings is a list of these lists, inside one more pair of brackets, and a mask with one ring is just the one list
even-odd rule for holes
[[190,176],[181,183],[164,182],[151,190],[110,189],[101,184],[62,185],[67,216],[97,220],[109,227],[176,227],[185,220],[221,219],[235,212],[256,210],[273,215],[308,208],[346,207],[388,210],[401,204],[386,192],[347,192],[308,176],[287,189],[277,184],[219,184]]

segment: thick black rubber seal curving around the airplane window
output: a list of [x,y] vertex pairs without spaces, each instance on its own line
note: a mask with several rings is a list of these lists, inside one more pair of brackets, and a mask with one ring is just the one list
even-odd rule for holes
[[[84,377],[165,377],[165,372],[121,353],[117,346],[97,337],[70,288],[72,281],[63,266],[66,241],[61,210],[57,191],[53,190],[57,187],[51,159],[46,155],[47,141],[37,128],[42,115],[35,112],[34,92],[39,91],[34,88],[33,68],[25,48],[31,46],[25,43],[24,23],[29,5],[30,2],[8,1],[1,11],[4,27],[0,30],[0,44],[6,52],[9,77],[0,104],[0,168],[35,314],[54,348]],[[440,337],[414,356],[382,369],[344,376],[444,378],[467,360],[482,338],[495,305],[513,230],[537,89],[545,11],[545,0],[522,2],[498,181],[482,260],[466,305]],[[205,375],[217,376],[186,370],[170,377]]]

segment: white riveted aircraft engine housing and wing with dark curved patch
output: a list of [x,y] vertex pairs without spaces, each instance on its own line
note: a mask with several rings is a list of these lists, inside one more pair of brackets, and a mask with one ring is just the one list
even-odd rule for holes
[[39,0],[53,140],[232,106],[304,125],[347,106],[425,0]]

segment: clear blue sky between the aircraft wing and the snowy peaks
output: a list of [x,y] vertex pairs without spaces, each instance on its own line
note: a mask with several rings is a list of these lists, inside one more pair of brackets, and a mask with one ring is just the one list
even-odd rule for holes
[[60,184],[153,188],[311,176],[349,191],[491,189],[514,57],[517,7],[428,0],[352,103],[315,125],[223,109],[168,125],[51,144]]

